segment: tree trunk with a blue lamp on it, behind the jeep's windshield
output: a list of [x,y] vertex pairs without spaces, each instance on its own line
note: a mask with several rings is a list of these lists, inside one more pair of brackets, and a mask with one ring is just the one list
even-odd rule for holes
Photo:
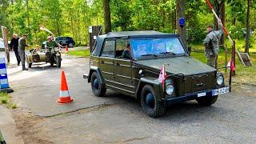
[[186,26],[184,26],[183,28],[179,26],[179,18],[185,18],[185,8],[186,8],[186,0],[176,1],[176,29],[177,29],[177,33],[183,38],[183,41],[187,45]]

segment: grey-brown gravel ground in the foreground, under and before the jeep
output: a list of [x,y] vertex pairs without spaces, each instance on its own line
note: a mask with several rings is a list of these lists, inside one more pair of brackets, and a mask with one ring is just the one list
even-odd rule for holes
[[14,118],[26,143],[254,143],[255,92],[254,86],[234,86],[214,106],[186,102],[169,106],[161,118],[147,117],[124,96],[119,104],[49,118],[17,110]]

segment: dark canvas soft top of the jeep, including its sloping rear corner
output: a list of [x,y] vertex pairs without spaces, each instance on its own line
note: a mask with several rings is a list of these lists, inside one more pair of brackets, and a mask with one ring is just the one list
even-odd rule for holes
[[108,34],[98,35],[97,43],[96,46],[94,46],[94,51],[92,55],[100,55],[104,39],[106,38],[179,38],[179,35],[167,34],[154,30],[110,32]]

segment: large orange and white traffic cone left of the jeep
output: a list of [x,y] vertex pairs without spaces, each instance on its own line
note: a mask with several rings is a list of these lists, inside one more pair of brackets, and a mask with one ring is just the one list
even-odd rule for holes
[[64,71],[62,71],[61,90],[59,91],[59,98],[57,102],[60,104],[73,102],[73,99],[70,98],[70,92],[66,84],[66,76]]

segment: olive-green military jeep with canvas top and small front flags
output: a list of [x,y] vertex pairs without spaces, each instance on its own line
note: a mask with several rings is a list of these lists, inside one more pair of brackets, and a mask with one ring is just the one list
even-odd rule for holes
[[[162,66],[166,79],[159,81]],[[158,117],[166,105],[196,100],[202,106],[230,92],[222,73],[191,58],[178,34],[157,31],[113,32],[98,36],[90,55],[90,73],[84,74],[93,94],[106,90],[137,98],[144,112]]]

